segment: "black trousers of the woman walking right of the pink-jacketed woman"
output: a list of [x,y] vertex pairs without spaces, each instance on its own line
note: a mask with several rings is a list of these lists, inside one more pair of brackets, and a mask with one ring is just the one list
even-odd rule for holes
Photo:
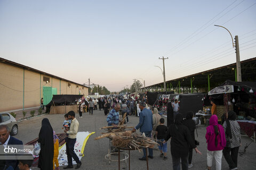
[[[238,150],[239,147],[235,147],[235,148],[224,148],[223,149],[223,156],[225,157],[229,169],[233,169],[237,167],[237,156],[238,156]],[[231,152],[231,155],[230,155]]]

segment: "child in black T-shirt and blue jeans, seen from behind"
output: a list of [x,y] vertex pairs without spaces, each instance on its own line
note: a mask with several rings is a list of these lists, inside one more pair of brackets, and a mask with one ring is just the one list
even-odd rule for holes
[[160,118],[160,125],[156,127],[156,139],[158,143],[158,148],[161,152],[160,157],[164,157],[164,160],[167,159],[167,142],[163,143],[164,137],[167,132],[167,126],[164,125],[164,118]]

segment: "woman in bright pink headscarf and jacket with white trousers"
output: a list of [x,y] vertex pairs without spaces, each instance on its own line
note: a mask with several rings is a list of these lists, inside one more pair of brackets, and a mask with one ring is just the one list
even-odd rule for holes
[[216,170],[221,169],[222,150],[226,146],[225,132],[222,125],[218,124],[217,115],[212,115],[210,125],[206,128],[207,142],[207,169],[211,169],[213,156],[216,162]]

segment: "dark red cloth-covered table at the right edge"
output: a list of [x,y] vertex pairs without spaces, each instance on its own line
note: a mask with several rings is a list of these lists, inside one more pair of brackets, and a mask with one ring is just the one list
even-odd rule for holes
[[255,132],[256,132],[256,121],[246,121],[246,120],[241,120],[241,121],[237,121],[240,125],[240,128],[246,133],[246,135],[251,138],[252,136],[252,140],[254,140],[254,142],[256,142],[255,139]]

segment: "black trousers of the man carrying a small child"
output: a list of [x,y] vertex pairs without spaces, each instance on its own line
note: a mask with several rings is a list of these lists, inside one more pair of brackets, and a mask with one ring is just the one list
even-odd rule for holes
[[75,139],[68,138],[68,140],[66,142],[66,152],[67,152],[69,166],[73,165],[72,158],[75,160],[76,163],[80,162],[79,158],[77,157],[77,155],[74,151],[75,143],[76,143],[76,138]]

